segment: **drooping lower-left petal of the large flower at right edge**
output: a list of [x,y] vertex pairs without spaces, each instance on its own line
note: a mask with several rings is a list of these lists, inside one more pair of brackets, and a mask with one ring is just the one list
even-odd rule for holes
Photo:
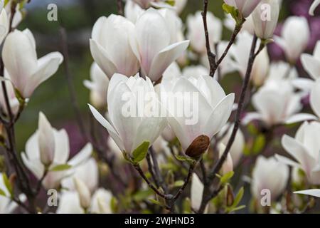
[[281,142],[284,149],[302,165],[306,175],[310,177],[311,170],[316,165],[316,161],[314,157],[309,155],[306,147],[288,135],[284,135]]

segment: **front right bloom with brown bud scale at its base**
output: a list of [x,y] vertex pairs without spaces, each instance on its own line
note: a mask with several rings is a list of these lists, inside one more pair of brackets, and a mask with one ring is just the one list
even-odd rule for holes
[[[199,141],[209,144],[213,135],[227,123],[234,100],[235,95],[225,95],[210,76],[180,77],[161,83],[161,103],[168,110],[169,125],[183,151],[191,157],[198,155],[194,147]],[[205,144],[198,145],[197,150],[205,149],[200,153],[208,149]]]

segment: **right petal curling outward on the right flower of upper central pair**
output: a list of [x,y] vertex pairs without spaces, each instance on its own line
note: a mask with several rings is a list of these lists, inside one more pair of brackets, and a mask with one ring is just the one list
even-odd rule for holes
[[186,51],[189,43],[189,41],[181,41],[171,44],[170,46],[167,46],[161,50],[152,61],[148,75],[149,78],[152,81],[157,81],[159,78],[161,78],[164,71],[166,71],[166,68],[168,68],[171,63],[176,61],[176,59],[182,55],[183,51]]

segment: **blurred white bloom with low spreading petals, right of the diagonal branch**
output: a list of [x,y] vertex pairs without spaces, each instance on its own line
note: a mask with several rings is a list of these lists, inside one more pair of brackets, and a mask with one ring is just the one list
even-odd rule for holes
[[242,123],[250,120],[262,120],[265,125],[294,123],[302,109],[302,95],[294,93],[294,87],[287,80],[270,81],[262,86],[252,98],[257,113],[247,113]]

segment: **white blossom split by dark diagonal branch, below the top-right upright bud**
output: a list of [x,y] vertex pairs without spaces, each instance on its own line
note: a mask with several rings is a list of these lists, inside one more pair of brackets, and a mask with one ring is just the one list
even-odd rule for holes
[[[253,36],[247,31],[243,31],[238,35],[237,43],[230,51],[233,61],[230,63],[233,68],[239,71],[240,75],[244,78],[247,71],[247,59],[250,56],[250,49]],[[267,78],[269,71],[270,60],[267,53],[267,48],[263,49],[255,59],[252,67],[251,80],[256,86],[261,86]]]

